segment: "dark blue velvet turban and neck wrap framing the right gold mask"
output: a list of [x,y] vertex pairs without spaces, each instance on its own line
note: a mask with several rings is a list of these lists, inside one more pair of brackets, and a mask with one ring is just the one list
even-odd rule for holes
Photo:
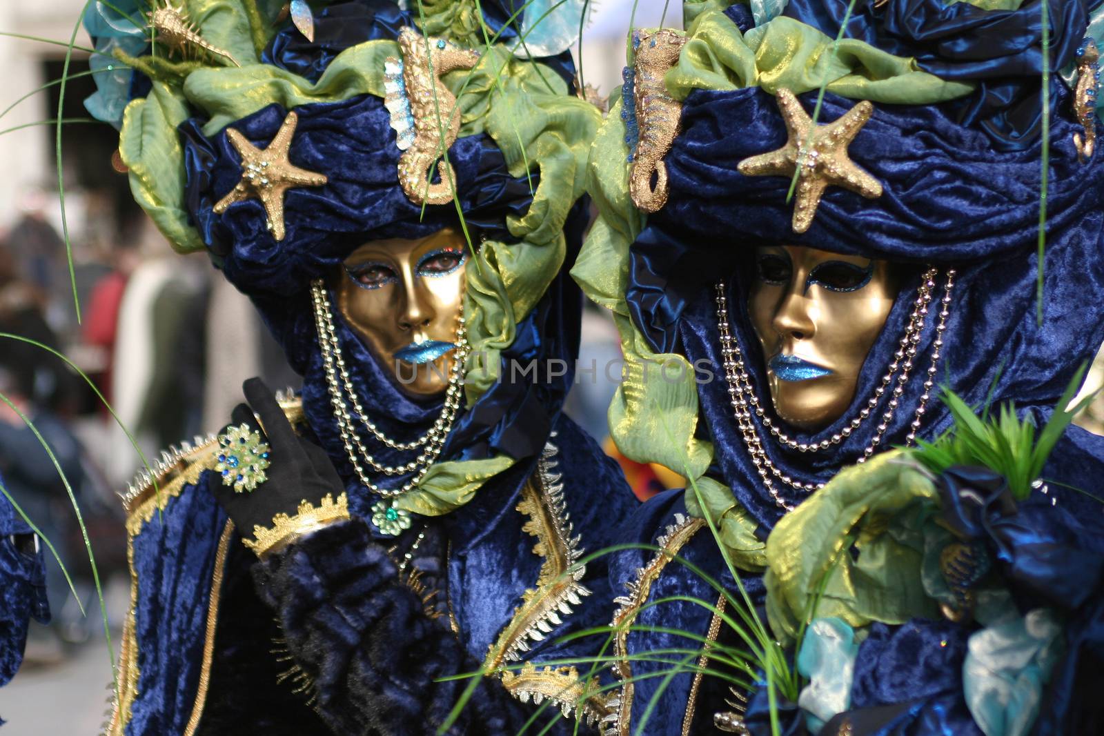
[[[1098,305],[1104,299],[1104,158],[1078,160],[1071,95],[1057,78],[1051,121],[1050,188],[1043,322],[1036,319],[1036,239],[1039,224],[1041,141],[1019,150],[998,150],[978,127],[958,121],[954,105],[875,105],[849,148],[850,157],[878,179],[875,200],[829,188],[811,227],[792,230],[787,177],[744,177],[737,163],[782,147],[786,129],[774,97],[762,89],[694,90],[682,107],[681,132],[666,156],[670,194],[650,215],[630,249],[627,300],[634,323],[657,352],[680,350],[691,363],[720,366],[720,338],[713,305],[716,275],[730,280],[734,333],[751,359],[747,370],[765,398],[766,376],[758,341],[746,312],[756,244],[807,245],[870,258],[912,264],[912,276],[859,378],[859,391],[843,418],[811,435],[787,429],[798,441],[838,434],[869,398],[907,323],[922,265],[957,269],[951,316],[937,380],[967,402],[980,404],[992,386],[995,402],[1015,401],[1021,409],[1053,406],[1076,367],[1104,341]],[[811,110],[815,93],[800,96]],[[830,121],[854,100],[825,96],[821,120]],[[941,279],[936,298],[942,297]],[[935,340],[934,319],[917,344],[914,375],[927,369]],[[885,444],[904,439],[923,381],[910,381],[885,434]],[[701,410],[714,441],[713,472],[764,529],[782,511],[765,491],[743,449],[723,374],[699,386]],[[769,403],[767,402],[767,405]],[[884,401],[878,413],[885,409]],[[769,409],[768,409],[769,410]],[[781,422],[775,419],[776,422]],[[921,436],[947,428],[951,417],[936,401],[927,404]],[[784,423],[783,423],[784,424]],[[803,481],[827,481],[853,462],[870,442],[875,422],[829,451],[799,454],[776,447],[772,459]],[[708,430],[705,429],[708,428]],[[766,430],[760,426],[763,435]],[[1070,479],[1085,487],[1091,479]],[[789,502],[800,500],[782,487]]]

